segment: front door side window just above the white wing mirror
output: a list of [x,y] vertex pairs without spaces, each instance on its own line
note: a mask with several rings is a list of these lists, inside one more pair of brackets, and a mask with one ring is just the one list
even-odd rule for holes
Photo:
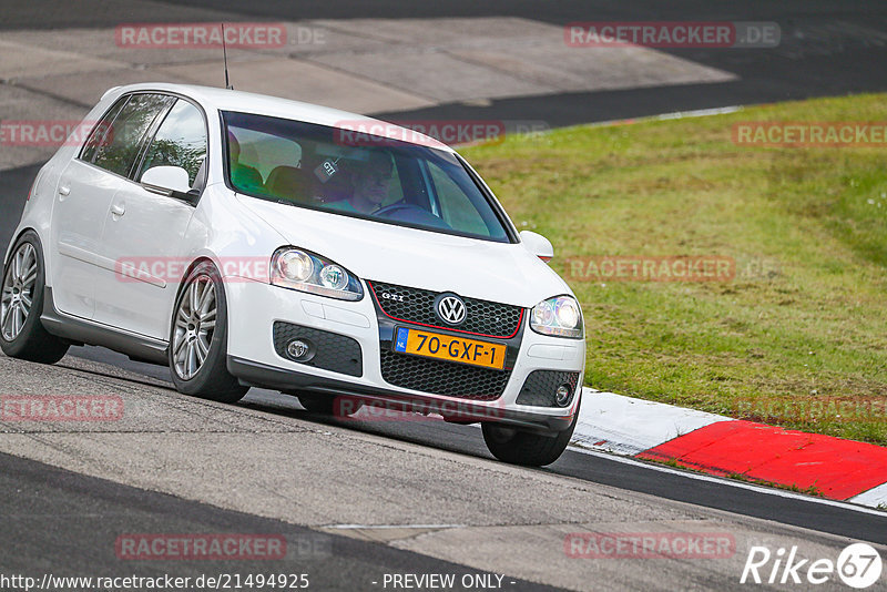
[[188,182],[194,187],[198,184],[201,165],[206,160],[206,146],[203,113],[192,103],[180,99],[157,129],[136,180],[153,166],[180,166],[187,171]]

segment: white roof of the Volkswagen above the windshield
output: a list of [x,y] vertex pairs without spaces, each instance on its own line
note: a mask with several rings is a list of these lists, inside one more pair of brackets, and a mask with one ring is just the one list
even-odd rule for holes
[[439,142],[438,140],[435,140],[434,137],[429,137],[415,130],[408,130],[400,125],[395,125],[390,122],[385,122],[368,118],[366,115],[358,115],[357,113],[350,113],[348,111],[341,111],[328,106],[303,103],[302,101],[290,101],[288,99],[281,99],[277,96],[269,96],[267,94],[234,91],[216,86],[200,86],[196,84],[145,82],[140,84],[128,84],[125,86],[115,86],[105,92],[104,96],[108,96],[112,92],[115,94],[125,94],[128,92],[136,91],[159,91],[182,94],[201,103],[204,109],[255,113],[259,115],[304,121],[306,123],[316,123],[318,125],[327,125],[329,127],[351,130],[356,132],[371,129],[371,133],[374,135],[380,135],[383,137],[399,140],[411,144],[430,146],[438,150],[445,150],[447,152],[455,152],[451,147],[447,146],[442,142]]

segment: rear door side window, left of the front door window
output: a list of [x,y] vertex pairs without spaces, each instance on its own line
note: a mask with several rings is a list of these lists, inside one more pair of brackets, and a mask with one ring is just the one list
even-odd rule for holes
[[93,154],[92,162],[105,171],[129,176],[145,132],[174,99],[163,94],[133,94]]

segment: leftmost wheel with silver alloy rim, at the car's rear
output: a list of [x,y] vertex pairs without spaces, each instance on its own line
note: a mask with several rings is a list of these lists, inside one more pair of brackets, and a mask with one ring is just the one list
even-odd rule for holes
[[11,358],[55,364],[70,345],[43,328],[45,267],[40,239],[27,232],[19,239],[3,273],[0,298],[0,348]]

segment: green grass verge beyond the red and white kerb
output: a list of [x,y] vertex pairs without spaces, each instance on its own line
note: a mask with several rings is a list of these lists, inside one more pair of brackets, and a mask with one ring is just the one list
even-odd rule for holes
[[[857,95],[463,152],[519,228],[554,244],[552,266],[585,315],[587,384],[887,445],[887,144],[732,141],[740,122],[886,113],[886,94]],[[735,277],[612,282],[570,268],[595,256],[722,256]]]

